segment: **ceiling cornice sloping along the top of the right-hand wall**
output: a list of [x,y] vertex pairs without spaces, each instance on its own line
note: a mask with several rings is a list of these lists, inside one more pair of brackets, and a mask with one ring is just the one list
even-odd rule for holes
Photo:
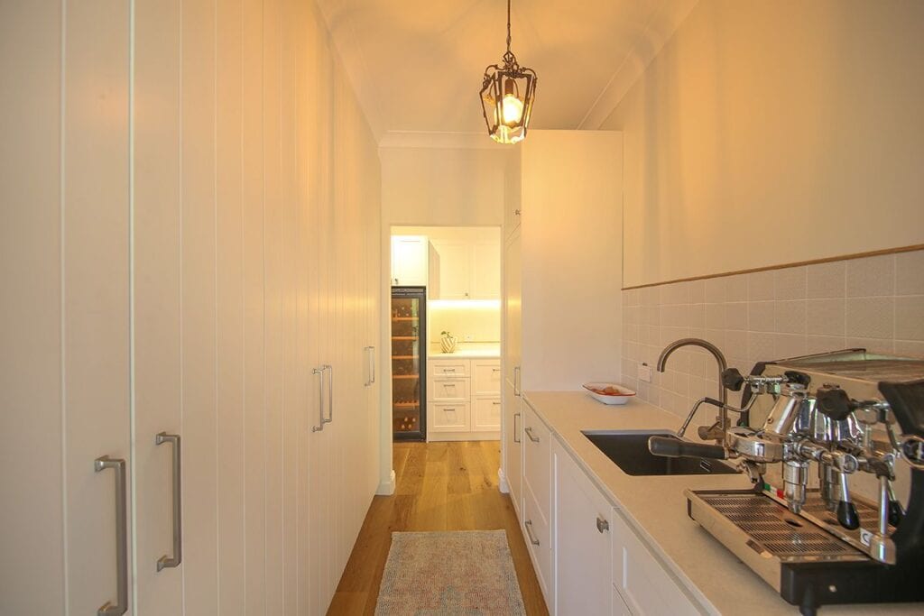
[[[582,130],[597,130],[602,127],[623,97],[626,96],[636,81],[663,49],[664,44],[671,40],[675,31],[684,22],[693,7],[699,0],[672,0],[665,3],[662,8],[651,16],[648,25],[642,32],[642,40],[636,42],[636,54],[626,55],[622,64],[616,68],[613,77],[600,92],[597,100],[590,105],[584,119],[577,125]],[[671,10],[668,10],[668,6]]]

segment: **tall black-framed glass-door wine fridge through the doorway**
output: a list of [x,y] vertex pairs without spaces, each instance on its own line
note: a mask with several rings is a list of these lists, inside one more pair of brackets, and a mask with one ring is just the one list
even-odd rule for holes
[[427,438],[427,288],[392,287],[392,433]]

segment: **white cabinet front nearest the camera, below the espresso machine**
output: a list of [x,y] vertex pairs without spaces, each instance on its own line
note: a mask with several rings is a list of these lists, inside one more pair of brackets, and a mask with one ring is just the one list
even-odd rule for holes
[[616,509],[613,529],[613,584],[629,610],[644,614],[698,614],[674,580]]

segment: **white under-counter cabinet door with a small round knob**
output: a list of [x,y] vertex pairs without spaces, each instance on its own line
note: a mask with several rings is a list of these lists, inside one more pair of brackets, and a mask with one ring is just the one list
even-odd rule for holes
[[612,610],[610,504],[553,440],[555,613]]

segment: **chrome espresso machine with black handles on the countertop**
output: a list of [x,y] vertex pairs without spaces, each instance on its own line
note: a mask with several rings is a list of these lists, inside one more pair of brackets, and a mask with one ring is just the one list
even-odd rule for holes
[[802,614],[924,601],[924,360],[851,349],[729,368],[723,386],[743,395],[721,444],[649,443],[753,482],[687,490],[689,516]]

